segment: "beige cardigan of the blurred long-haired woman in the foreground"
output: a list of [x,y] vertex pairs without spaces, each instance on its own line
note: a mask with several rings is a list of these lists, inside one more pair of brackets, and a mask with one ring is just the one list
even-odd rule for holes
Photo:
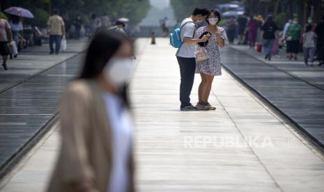
[[[72,182],[88,180],[106,192],[111,172],[111,127],[102,90],[92,80],[68,86],[60,107],[62,145],[48,192],[72,192]],[[129,161],[130,191],[134,191],[134,163]]]

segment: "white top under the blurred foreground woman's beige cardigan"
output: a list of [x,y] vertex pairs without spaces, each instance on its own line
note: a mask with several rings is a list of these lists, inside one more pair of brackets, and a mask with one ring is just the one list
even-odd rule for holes
[[116,95],[105,93],[108,118],[111,123],[112,167],[107,192],[129,191],[129,158],[132,145],[132,118],[128,110],[123,109],[122,100]]

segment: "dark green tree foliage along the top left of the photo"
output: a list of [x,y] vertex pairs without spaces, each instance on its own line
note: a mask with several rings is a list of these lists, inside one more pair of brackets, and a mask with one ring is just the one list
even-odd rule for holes
[[[20,6],[31,10],[35,15],[36,24],[46,25],[49,7],[59,9],[61,15],[68,19],[75,19],[80,14],[84,23],[88,22],[90,13],[98,16],[107,13],[111,19],[128,17],[132,24],[136,24],[146,16],[150,8],[149,0],[0,0],[3,9],[10,6]],[[47,17],[45,19],[45,17]]]

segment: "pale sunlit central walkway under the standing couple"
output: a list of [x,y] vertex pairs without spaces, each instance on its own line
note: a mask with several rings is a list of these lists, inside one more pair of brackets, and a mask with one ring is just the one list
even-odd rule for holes
[[[138,191],[323,191],[324,157],[316,147],[225,70],[210,95],[216,111],[179,111],[175,50],[167,39],[148,43],[137,41],[144,51],[131,86]],[[55,125],[1,191],[43,191],[59,140]]]

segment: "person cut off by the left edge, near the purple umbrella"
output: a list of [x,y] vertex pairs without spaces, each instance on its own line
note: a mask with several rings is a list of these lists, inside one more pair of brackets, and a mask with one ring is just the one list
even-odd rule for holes
[[11,41],[13,41],[13,34],[11,33],[10,24],[6,19],[0,19],[0,54],[2,56],[2,66],[4,70],[8,70],[8,42]]

